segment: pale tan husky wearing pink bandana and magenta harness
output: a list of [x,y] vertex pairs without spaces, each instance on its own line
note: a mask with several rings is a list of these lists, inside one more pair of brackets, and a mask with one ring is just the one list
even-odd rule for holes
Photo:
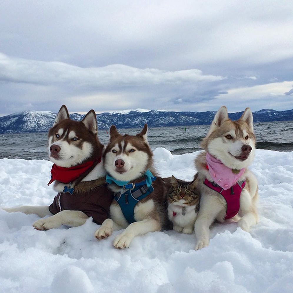
[[202,148],[205,151],[195,159],[196,186],[201,194],[194,224],[196,250],[209,245],[209,226],[214,220],[231,218],[247,232],[257,223],[257,179],[247,169],[255,152],[251,110],[246,108],[239,120],[231,121],[222,106]]

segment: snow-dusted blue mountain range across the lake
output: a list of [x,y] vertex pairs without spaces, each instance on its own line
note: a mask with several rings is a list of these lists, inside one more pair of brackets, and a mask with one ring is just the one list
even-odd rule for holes
[[[229,113],[232,120],[239,119],[243,112]],[[158,110],[130,110],[128,112],[96,114],[99,129],[109,129],[112,124],[117,128],[141,128],[145,123],[149,127],[189,126],[210,124],[216,114],[207,112],[174,112]],[[84,115],[73,113],[70,118],[81,120]],[[0,133],[47,132],[53,125],[56,113],[51,111],[24,111],[0,117]],[[275,111],[263,109],[253,112],[254,122],[293,120],[293,109]]]

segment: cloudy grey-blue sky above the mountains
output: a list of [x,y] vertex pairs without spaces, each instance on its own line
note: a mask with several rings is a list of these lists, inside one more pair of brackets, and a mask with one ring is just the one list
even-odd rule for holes
[[0,1],[0,116],[293,108],[286,0]]

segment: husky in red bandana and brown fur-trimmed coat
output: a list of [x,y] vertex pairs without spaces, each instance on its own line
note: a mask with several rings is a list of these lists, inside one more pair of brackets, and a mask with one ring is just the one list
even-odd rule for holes
[[106,187],[101,162],[104,146],[97,137],[96,113],[89,111],[82,121],[69,119],[63,105],[49,129],[49,159],[53,162],[51,180],[58,192],[50,206],[4,208],[7,212],[51,216],[36,221],[37,230],[57,228],[62,224],[77,227],[93,217],[101,224],[109,214],[113,193]]

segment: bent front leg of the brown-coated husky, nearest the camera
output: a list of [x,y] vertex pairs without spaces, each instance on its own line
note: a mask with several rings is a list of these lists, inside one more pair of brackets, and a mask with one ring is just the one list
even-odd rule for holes
[[54,216],[34,222],[33,227],[41,231],[58,228],[61,225],[78,227],[83,225],[88,218],[89,217],[81,211],[64,210]]

